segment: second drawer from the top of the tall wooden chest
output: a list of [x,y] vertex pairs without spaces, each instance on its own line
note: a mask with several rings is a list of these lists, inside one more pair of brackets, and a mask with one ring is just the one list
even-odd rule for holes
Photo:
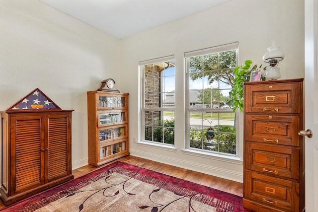
[[245,114],[244,127],[247,141],[299,146],[299,116]]

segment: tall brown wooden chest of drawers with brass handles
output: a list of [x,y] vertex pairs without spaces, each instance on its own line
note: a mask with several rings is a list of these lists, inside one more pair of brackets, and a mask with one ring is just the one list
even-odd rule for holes
[[245,82],[243,206],[255,212],[305,208],[303,78]]

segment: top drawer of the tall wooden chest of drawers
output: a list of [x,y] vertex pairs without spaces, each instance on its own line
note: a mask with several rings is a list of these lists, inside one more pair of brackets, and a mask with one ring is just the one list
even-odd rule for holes
[[244,84],[245,112],[301,113],[301,82]]

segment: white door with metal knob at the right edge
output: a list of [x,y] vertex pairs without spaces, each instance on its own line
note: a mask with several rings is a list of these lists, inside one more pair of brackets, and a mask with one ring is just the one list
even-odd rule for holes
[[305,0],[306,212],[318,212],[318,0]]

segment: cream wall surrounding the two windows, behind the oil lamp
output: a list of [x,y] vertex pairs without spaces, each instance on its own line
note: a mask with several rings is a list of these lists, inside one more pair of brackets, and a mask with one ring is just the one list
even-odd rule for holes
[[[182,5],[180,5],[182,7]],[[239,41],[239,65],[244,60],[263,64],[262,56],[272,41],[281,46],[285,59],[279,64],[282,79],[304,77],[304,2],[301,0],[232,0],[217,7],[124,39],[125,63],[120,84],[130,90],[130,152],[184,168],[242,182],[242,164],[184,154],[185,71],[183,54],[188,51]],[[153,148],[133,142],[141,139],[140,72],[138,62],[175,56],[175,146],[176,150]],[[242,124],[242,114],[240,115]],[[239,129],[240,154],[242,128]]]

